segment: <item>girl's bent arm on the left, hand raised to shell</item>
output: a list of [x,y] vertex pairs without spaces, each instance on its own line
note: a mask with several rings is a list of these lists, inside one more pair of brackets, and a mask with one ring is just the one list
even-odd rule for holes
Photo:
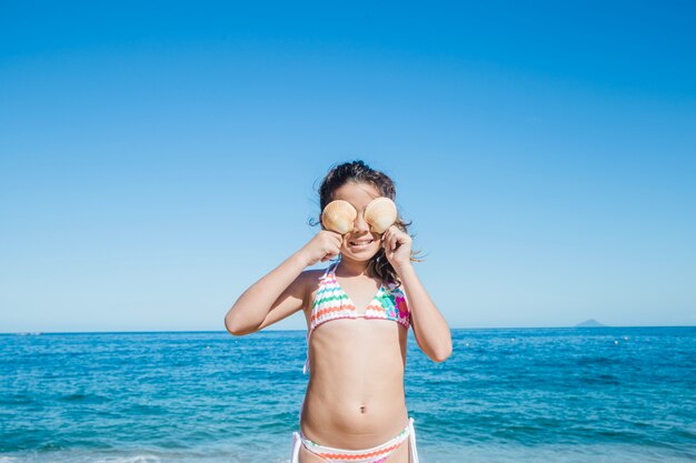
[[309,272],[304,272],[305,268],[337,255],[341,241],[341,235],[335,232],[317,233],[239,296],[225,315],[227,331],[238,336],[250,334],[302,309],[309,288]]

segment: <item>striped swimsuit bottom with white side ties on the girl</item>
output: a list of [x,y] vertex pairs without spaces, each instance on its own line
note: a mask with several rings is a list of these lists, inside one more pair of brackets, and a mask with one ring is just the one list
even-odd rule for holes
[[408,424],[404,430],[391,437],[384,444],[371,449],[362,450],[345,450],[328,447],[317,444],[302,435],[302,432],[292,433],[292,459],[291,463],[299,463],[300,446],[319,455],[329,463],[381,463],[387,460],[394,451],[406,440],[410,442],[410,463],[419,463],[418,451],[416,449],[416,429],[414,427],[414,419],[408,419]]

